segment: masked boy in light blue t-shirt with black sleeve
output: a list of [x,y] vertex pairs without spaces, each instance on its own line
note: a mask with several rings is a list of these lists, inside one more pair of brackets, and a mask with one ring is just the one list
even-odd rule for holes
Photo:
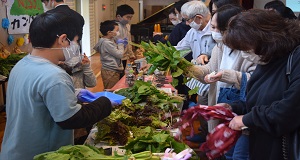
[[0,159],[32,160],[72,145],[73,129],[93,125],[111,113],[106,97],[78,104],[80,95],[92,94],[84,89],[75,92],[72,78],[57,66],[75,56],[71,40],[78,29],[76,20],[64,12],[45,12],[30,24],[32,52],[14,66],[8,80]]

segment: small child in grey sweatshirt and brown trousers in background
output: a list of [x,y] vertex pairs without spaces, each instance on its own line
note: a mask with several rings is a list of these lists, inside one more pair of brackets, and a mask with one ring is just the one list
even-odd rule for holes
[[115,21],[102,22],[100,32],[103,37],[95,45],[94,50],[100,53],[104,89],[110,89],[119,81],[120,74],[124,70],[121,59],[127,44],[122,39],[115,42],[115,38],[120,34],[119,25]]

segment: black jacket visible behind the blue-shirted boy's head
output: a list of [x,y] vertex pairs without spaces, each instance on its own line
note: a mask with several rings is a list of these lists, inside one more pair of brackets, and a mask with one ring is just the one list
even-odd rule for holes
[[56,6],[54,9],[51,9],[48,11],[49,13],[54,13],[54,12],[63,12],[69,16],[71,16],[72,18],[74,18],[77,21],[77,25],[79,28],[78,30],[78,41],[81,40],[82,38],[82,30],[83,30],[83,25],[84,25],[84,19],[82,17],[81,14],[79,14],[78,12],[74,11],[73,9],[71,9],[68,5],[66,4],[61,4]]

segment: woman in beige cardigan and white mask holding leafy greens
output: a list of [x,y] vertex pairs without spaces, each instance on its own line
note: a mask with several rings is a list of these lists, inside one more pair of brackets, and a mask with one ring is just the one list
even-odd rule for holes
[[[231,88],[234,86],[235,88],[240,89],[242,72],[245,72],[247,79],[249,79],[256,67],[255,63],[243,58],[241,51],[233,50],[223,44],[222,35],[226,31],[229,19],[240,12],[242,12],[242,8],[234,5],[225,5],[216,10],[211,20],[211,32],[212,37],[218,44],[214,47],[208,64],[204,66],[195,65],[191,68],[199,81],[210,84],[208,93],[209,106],[217,104],[221,87]],[[215,71],[216,74],[208,76],[213,71]],[[216,125],[217,123],[209,123],[209,131]],[[241,140],[238,141],[236,148],[232,149],[233,151],[231,151],[226,158],[235,160],[247,159],[247,141],[247,135],[242,136]]]

